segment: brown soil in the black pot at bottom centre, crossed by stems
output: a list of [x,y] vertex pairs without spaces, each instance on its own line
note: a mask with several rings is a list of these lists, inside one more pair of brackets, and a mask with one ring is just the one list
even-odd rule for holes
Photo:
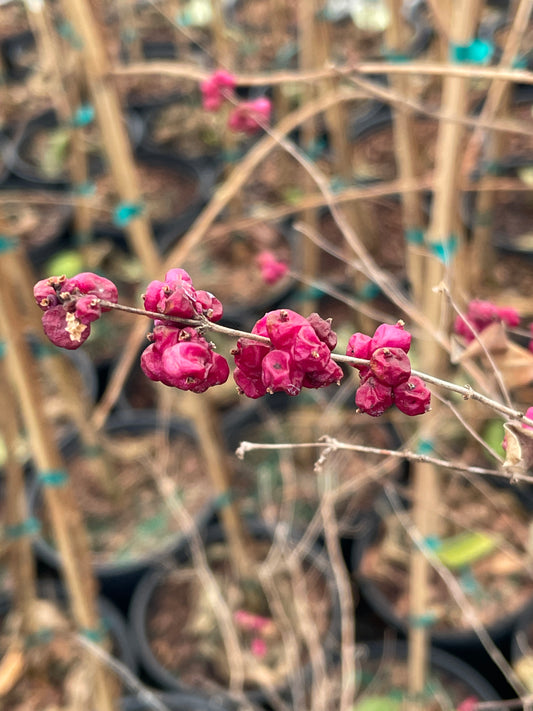
[[[270,544],[261,545],[256,553],[262,557],[269,548]],[[297,634],[297,617],[301,621],[303,611],[310,614],[319,639],[328,629],[331,601],[326,581],[308,565],[296,576],[289,575],[283,565],[281,570],[275,569],[270,582],[283,606],[283,618],[280,618],[270,608],[267,590],[256,580],[245,581],[244,586],[235,583],[223,545],[209,546],[207,552],[211,570],[232,615],[244,610],[267,620],[264,628],[255,633],[236,622],[245,665],[245,687],[263,683],[279,688],[291,671],[283,638]],[[295,586],[302,586],[300,593],[296,593]],[[298,605],[295,605],[296,599]],[[154,654],[164,668],[179,675],[186,686],[209,690],[228,684],[228,659],[219,624],[220,618],[213,611],[206,591],[189,569],[170,574],[150,601],[147,633]],[[264,643],[264,654],[254,654],[254,639]],[[308,651],[304,640],[298,639],[297,647],[300,663],[305,663]]]

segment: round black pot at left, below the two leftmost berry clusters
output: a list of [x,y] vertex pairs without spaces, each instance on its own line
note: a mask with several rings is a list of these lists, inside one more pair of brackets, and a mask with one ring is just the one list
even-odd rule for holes
[[[106,424],[106,435],[126,433],[141,436],[156,429],[160,424],[155,411],[128,411],[119,412],[109,418]],[[170,440],[173,437],[183,436],[186,440],[195,441],[195,437],[188,422],[174,418],[169,423]],[[68,465],[80,448],[79,439],[70,437],[62,446],[62,454]],[[34,479],[30,487],[30,508],[36,515],[42,499],[42,488]],[[195,525],[203,530],[213,516],[211,503],[207,503],[195,518]],[[131,593],[141,577],[151,568],[160,565],[168,558],[182,554],[186,547],[187,532],[176,533],[169,542],[159,545],[149,553],[124,561],[94,562],[93,571],[100,583],[103,594],[113,602],[124,608],[129,602]],[[34,550],[38,560],[49,568],[59,571],[61,557],[58,551],[40,535],[34,541]]]

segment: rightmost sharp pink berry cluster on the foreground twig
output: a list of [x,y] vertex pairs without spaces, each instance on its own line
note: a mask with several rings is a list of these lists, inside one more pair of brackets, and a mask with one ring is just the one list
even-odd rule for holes
[[355,366],[361,376],[355,404],[361,412],[379,417],[392,405],[405,415],[428,412],[431,393],[421,378],[411,375],[410,347],[411,334],[402,321],[394,326],[382,323],[372,337],[353,334],[346,355],[369,361]]

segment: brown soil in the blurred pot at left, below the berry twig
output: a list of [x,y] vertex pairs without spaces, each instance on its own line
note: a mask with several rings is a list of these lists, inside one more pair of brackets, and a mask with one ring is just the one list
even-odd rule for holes
[[211,498],[189,437],[171,435],[167,443],[163,431],[115,435],[106,437],[103,452],[107,484],[98,458],[78,456],[67,465],[96,563],[132,561],[170,547],[182,531],[175,507],[195,516]]

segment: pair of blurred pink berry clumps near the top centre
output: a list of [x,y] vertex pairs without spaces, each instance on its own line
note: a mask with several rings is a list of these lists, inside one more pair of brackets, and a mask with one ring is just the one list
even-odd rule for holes
[[[219,111],[224,101],[236,101],[235,77],[224,69],[214,72],[200,84],[202,105],[206,111]],[[260,96],[252,101],[240,101],[233,107],[228,117],[230,130],[252,135],[261,130],[261,125],[270,121],[272,104]]]

